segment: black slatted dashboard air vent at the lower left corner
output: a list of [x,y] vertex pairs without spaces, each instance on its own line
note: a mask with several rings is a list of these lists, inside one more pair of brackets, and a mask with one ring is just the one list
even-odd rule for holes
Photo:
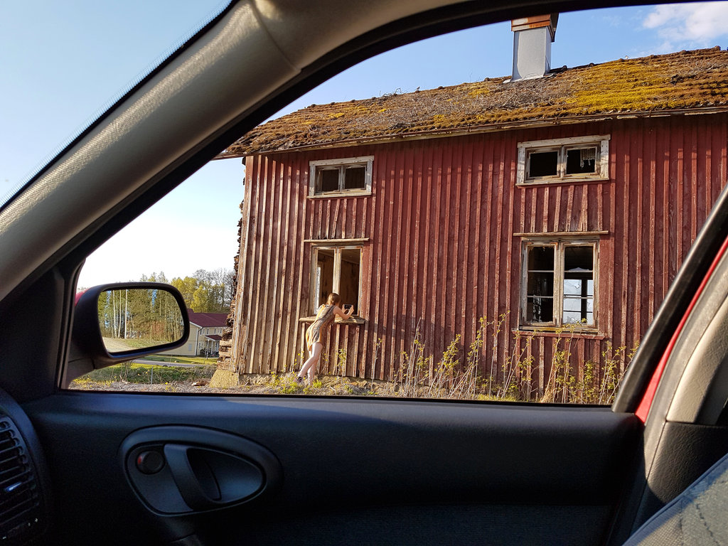
[[25,542],[41,528],[33,462],[15,423],[0,415],[0,544]]

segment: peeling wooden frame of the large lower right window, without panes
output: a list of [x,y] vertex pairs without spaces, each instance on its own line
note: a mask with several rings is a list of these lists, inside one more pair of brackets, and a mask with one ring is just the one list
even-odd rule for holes
[[[564,277],[564,256],[566,247],[590,246],[592,253],[592,277],[594,285],[593,295],[593,323],[563,323],[563,277]],[[552,247],[554,248],[554,270],[553,270],[553,320],[550,322],[529,322],[526,320],[528,306],[528,273],[529,273],[529,248]],[[599,240],[593,238],[572,238],[572,237],[533,237],[524,238],[521,242],[521,296],[519,298],[519,326],[520,330],[541,330],[555,331],[562,328],[569,328],[577,332],[596,333],[598,332],[598,301],[599,301]]]

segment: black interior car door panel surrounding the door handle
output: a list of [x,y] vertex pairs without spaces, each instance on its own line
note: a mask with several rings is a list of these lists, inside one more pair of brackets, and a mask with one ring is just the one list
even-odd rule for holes
[[[593,544],[606,534],[641,428],[608,408],[414,400],[63,392],[24,408],[65,507],[60,538],[83,526],[97,539],[142,543],[182,529],[215,544],[349,542],[342,532],[365,543],[491,535],[502,544]],[[153,437],[150,427],[175,423],[263,446],[280,462],[280,490],[207,513],[146,510],[121,447],[134,431]]]

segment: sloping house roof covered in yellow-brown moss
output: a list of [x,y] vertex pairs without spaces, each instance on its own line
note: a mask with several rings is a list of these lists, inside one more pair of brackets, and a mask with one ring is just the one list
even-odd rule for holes
[[220,157],[502,130],[630,115],[728,109],[728,52],[681,51],[312,105],[251,130]]

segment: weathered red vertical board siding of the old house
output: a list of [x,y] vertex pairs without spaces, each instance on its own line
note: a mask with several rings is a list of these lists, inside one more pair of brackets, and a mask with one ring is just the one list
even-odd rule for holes
[[[674,116],[248,157],[233,365],[293,371],[304,360],[311,243],[367,238],[364,325],[335,324],[320,373],[395,379],[419,337],[437,363],[457,335],[464,359],[491,323],[480,373],[521,360],[521,395],[548,387],[554,355],[603,373],[633,347],[665,298],[727,179],[727,117]],[[610,180],[516,186],[517,144],[611,135]],[[373,193],[309,199],[309,161],[373,155]],[[521,237],[598,236],[598,336],[518,332]],[[495,325],[499,324],[499,328]],[[529,363],[530,362],[530,363]],[[620,359],[620,367],[625,359]]]

